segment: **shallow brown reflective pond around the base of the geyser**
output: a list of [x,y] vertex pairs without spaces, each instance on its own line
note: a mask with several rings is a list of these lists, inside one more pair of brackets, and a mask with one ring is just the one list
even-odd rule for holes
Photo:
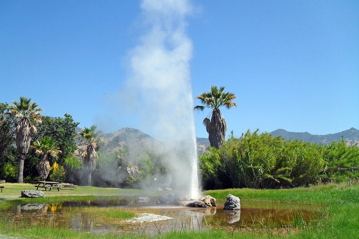
[[[155,198],[139,203],[134,197],[116,201],[78,201],[54,204],[24,203],[1,209],[0,220],[14,228],[45,226],[87,233],[135,233],[158,235],[168,231],[224,229],[228,231],[272,230],[280,234],[308,227],[318,220],[323,206],[241,201],[241,210],[223,210],[223,202],[211,208],[158,206]],[[170,220],[134,223],[111,216],[116,212],[152,213]],[[139,215],[141,216],[141,215]]]

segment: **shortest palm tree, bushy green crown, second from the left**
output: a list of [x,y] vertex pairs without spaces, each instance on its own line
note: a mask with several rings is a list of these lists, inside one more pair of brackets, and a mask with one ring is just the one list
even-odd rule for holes
[[45,180],[50,172],[48,156],[56,157],[61,153],[60,148],[56,145],[54,138],[49,136],[45,136],[41,140],[36,140],[32,147],[36,150],[36,154],[40,156],[40,160],[36,164],[36,170],[40,178]]

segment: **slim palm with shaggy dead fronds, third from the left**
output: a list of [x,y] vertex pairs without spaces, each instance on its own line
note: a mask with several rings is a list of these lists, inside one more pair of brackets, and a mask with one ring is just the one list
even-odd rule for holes
[[98,155],[96,153],[96,142],[98,138],[99,131],[96,130],[96,126],[92,125],[90,128],[84,128],[80,132],[81,141],[87,143],[85,151],[82,153],[81,157],[84,159],[85,173],[88,175],[87,185],[91,186],[91,173],[95,170],[96,161]]

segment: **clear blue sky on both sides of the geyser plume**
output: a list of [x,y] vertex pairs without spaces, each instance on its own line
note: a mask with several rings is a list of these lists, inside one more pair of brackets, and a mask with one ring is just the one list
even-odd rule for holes
[[[192,4],[193,96],[210,84],[237,95],[238,107],[222,110],[227,134],[359,129],[358,0]],[[26,96],[44,115],[69,113],[80,127],[144,130],[121,102],[107,104],[128,75],[140,12],[136,0],[1,0],[0,102]],[[195,113],[198,137],[208,136],[206,115]]]

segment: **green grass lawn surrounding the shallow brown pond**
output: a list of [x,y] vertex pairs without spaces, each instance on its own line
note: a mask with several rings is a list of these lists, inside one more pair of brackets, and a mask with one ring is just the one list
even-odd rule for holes
[[[23,185],[24,186],[24,185]],[[25,185],[33,189],[30,185]],[[7,194],[1,194],[0,197],[6,201],[0,201],[0,207],[5,206],[8,200],[19,200],[16,195],[19,194],[19,188],[22,185],[9,185]],[[24,189],[24,188],[23,188]],[[5,190],[4,190],[5,192]],[[97,188],[97,187],[79,187],[75,191],[54,191],[45,192],[46,196],[51,197],[51,201],[57,200],[82,200],[86,198],[96,197],[120,197],[121,195],[140,195],[141,190],[125,190],[119,188]],[[327,205],[323,211],[322,218],[312,225],[310,228],[304,228],[298,232],[288,232],[285,234],[276,234],[273,230],[263,230],[251,232],[226,232],[221,230],[210,230],[202,232],[170,232],[159,235],[158,238],[289,238],[289,239],[321,239],[321,238],[358,238],[359,236],[359,185],[358,183],[347,184],[331,184],[312,187],[300,187],[293,189],[277,189],[277,190],[257,190],[257,189],[225,189],[205,191],[218,200],[225,200],[228,194],[239,196],[241,200],[256,201],[276,201],[276,202],[292,202],[292,203],[311,203]],[[6,197],[3,197],[5,195]],[[50,200],[49,198],[40,200]],[[106,217],[116,217],[108,211]],[[125,215],[130,216],[130,215]],[[17,227],[16,230],[8,222],[1,222],[0,234],[21,237],[21,238],[139,238],[148,237],[146,235],[94,235],[83,232],[76,232],[72,229],[63,228],[61,230],[44,228],[35,226],[31,228]]]

